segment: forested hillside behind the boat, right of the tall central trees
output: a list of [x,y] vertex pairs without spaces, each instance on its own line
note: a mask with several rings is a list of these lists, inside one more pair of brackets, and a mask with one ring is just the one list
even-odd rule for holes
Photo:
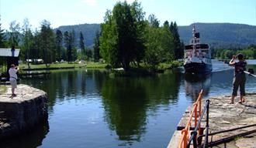
[[[256,42],[256,26],[231,23],[195,23],[201,42],[216,48],[244,47]],[[186,44],[192,37],[192,25],[178,26],[178,32]]]

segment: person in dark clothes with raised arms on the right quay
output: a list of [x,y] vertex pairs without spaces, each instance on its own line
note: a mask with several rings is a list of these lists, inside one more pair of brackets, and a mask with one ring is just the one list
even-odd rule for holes
[[236,59],[236,55],[233,55],[233,58],[230,60],[229,65],[234,66],[234,80],[233,80],[233,92],[230,100],[230,104],[234,104],[234,98],[237,96],[237,89],[240,87],[240,101],[238,103],[245,102],[245,82],[246,76],[244,71],[246,70],[247,62],[244,60],[244,55],[238,54],[237,55],[238,62],[234,62]]

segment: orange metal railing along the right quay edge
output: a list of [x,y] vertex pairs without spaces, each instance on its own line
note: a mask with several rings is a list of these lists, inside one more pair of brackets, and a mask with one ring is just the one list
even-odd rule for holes
[[[182,130],[182,137],[178,143],[178,148],[185,148],[187,147],[187,143],[189,141],[189,131],[190,131],[190,126],[192,123],[192,117],[194,117],[195,120],[195,126],[198,122],[198,118],[202,114],[202,109],[201,109],[201,103],[202,103],[202,89],[199,93],[199,97],[196,99],[195,103],[193,104],[192,111],[189,116],[188,123],[185,126],[185,129]],[[199,124],[199,135],[201,134],[201,126]]]

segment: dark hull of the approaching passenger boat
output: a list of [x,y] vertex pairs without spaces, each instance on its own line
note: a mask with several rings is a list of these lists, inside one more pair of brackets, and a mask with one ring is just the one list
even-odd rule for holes
[[209,73],[212,72],[213,66],[206,63],[191,62],[184,65],[186,73]]

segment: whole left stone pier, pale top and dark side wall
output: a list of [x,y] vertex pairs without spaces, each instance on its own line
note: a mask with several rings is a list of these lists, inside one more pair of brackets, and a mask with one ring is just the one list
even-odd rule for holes
[[0,139],[33,130],[47,116],[47,93],[40,89],[20,84],[14,97],[11,86],[0,93]]

